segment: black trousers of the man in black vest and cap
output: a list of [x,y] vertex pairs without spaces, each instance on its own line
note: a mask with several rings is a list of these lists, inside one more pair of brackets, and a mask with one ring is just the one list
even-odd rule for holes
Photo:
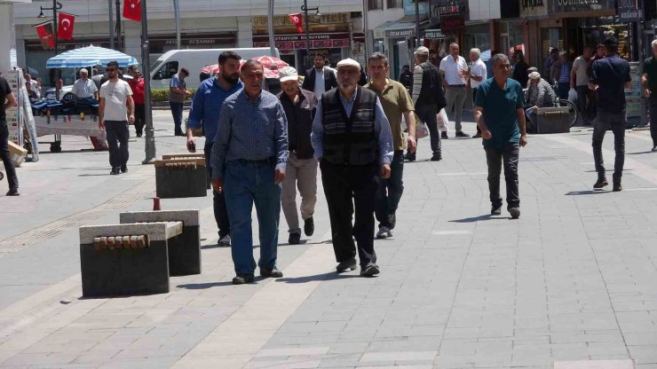
[[[329,203],[333,250],[338,263],[356,257],[358,243],[360,265],[376,263],[374,252],[374,209],[379,186],[377,164],[350,167],[320,162],[321,183]],[[352,224],[352,216],[355,220]]]

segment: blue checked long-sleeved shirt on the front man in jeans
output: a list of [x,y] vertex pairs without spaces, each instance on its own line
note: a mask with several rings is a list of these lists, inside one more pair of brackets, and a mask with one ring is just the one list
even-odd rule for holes
[[212,145],[212,178],[223,179],[227,161],[276,161],[285,172],[288,161],[288,120],[278,98],[263,90],[249,98],[241,90],[224,101]]

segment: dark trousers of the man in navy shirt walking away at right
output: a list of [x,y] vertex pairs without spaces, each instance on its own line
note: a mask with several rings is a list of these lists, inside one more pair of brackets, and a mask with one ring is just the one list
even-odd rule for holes
[[605,177],[605,161],[602,158],[602,141],[606,130],[613,131],[613,149],[616,158],[613,163],[613,183],[621,183],[622,168],[625,164],[625,112],[613,114],[598,110],[598,119],[593,126],[593,161],[596,163],[598,178]]

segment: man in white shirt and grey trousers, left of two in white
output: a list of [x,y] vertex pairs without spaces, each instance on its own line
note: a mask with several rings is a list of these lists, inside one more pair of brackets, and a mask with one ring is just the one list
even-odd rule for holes
[[454,112],[456,137],[470,137],[463,132],[461,125],[461,114],[463,112],[463,103],[465,102],[465,84],[468,73],[468,63],[458,54],[459,46],[457,43],[449,45],[449,55],[440,60],[440,76],[442,84],[445,86],[445,98],[447,99],[447,114]]

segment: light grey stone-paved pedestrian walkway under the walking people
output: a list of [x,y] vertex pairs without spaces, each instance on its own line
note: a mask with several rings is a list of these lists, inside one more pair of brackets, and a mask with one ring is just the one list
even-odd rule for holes
[[[156,128],[170,136],[164,113]],[[451,138],[431,162],[422,139],[394,237],[376,241],[375,279],[334,272],[321,188],[305,244],[284,244],[281,216],[285,277],[249,286],[230,284],[210,198],[163,200],[202,210],[203,273],[171,278],[170,294],[81,299],[75,224],[0,256],[0,367],[656,369],[657,154],[646,131],[629,131],[626,190],[592,192],[590,134],[529,138],[517,221],[488,215],[479,140]],[[0,242],[143,183],[153,169],[137,165],[140,145],[130,177],[106,176],[107,153],[26,164],[24,196],[0,200],[12,208],[0,214]],[[158,139],[158,153],[183,150]],[[149,206],[146,195],[127,208]]]

